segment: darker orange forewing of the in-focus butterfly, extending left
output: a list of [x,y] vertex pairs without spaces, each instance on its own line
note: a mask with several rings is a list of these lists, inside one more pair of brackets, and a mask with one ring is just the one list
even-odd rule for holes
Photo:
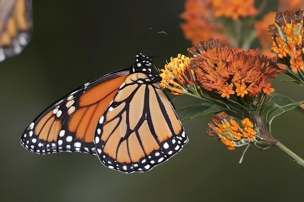
[[21,144],[37,154],[95,154],[96,125],[130,70],[119,70],[68,93],[42,112],[21,136]]

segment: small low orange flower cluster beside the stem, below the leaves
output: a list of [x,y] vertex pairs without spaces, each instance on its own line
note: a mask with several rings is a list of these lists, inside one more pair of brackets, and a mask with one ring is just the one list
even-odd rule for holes
[[255,141],[256,131],[253,129],[253,123],[245,118],[241,121],[241,124],[243,127],[240,127],[225,112],[220,112],[208,124],[207,134],[220,139],[229,150],[234,150],[235,146]]

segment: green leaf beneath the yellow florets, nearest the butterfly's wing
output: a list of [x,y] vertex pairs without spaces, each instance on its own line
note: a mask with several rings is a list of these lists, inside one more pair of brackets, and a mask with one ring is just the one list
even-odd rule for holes
[[182,109],[178,109],[179,117],[182,121],[202,118],[206,115],[217,113],[220,111],[226,110],[220,106],[209,104],[209,103],[200,103],[195,105],[189,105]]

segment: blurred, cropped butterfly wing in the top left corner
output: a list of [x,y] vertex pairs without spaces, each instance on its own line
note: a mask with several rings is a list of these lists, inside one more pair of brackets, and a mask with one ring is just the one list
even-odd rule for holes
[[32,32],[32,0],[0,0],[0,61],[19,54]]

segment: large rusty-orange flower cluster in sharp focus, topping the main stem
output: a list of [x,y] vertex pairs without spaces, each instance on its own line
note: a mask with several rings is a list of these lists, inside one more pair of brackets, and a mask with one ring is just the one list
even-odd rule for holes
[[[208,45],[208,44],[211,45]],[[188,49],[191,53],[190,68],[196,81],[207,91],[244,97],[263,91],[267,95],[274,91],[267,80],[282,70],[270,58],[257,54],[258,49],[220,47],[214,40],[201,42]]]

